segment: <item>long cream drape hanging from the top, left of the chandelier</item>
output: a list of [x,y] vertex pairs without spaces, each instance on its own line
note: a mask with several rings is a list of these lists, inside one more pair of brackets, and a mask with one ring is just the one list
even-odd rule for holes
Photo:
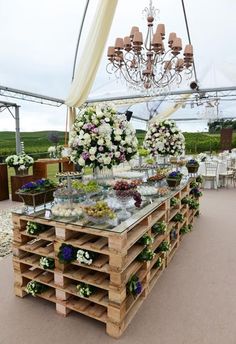
[[[66,105],[81,106],[92,88],[118,0],[99,0]],[[70,125],[72,118],[70,118]]]

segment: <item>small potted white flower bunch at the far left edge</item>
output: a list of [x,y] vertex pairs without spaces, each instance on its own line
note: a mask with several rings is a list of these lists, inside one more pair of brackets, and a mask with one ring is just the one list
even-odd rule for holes
[[27,175],[29,167],[34,163],[34,159],[23,152],[19,155],[9,155],[5,162],[9,167],[14,167],[16,175]]

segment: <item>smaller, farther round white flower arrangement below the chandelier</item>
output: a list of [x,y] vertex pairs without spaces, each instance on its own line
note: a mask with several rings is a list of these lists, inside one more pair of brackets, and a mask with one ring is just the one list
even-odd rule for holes
[[181,155],[185,149],[185,138],[173,120],[160,121],[154,117],[144,139],[144,147],[152,156]]

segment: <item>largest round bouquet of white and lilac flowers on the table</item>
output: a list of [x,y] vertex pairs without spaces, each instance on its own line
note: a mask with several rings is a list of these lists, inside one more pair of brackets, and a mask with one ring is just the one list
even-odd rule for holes
[[78,114],[71,131],[70,159],[81,167],[119,165],[137,153],[135,130],[109,106],[87,107]]

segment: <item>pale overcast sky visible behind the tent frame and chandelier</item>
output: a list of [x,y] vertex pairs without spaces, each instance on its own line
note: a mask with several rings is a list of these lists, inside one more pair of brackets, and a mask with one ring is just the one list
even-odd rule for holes
[[[97,2],[90,0],[79,57]],[[167,34],[176,31],[187,43],[181,1],[153,0],[153,3],[160,9],[158,22],[166,24]],[[66,99],[84,5],[85,0],[0,0],[0,84]],[[142,10],[147,5],[147,0],[119,0],[107,46],[113,45],[116,37],[128,35],[134,25],[146,32]],[[200,87],[235,86],[236,46],[232,37],[236,33],[236,2],[188,0],[185,6]],[[107,74],[106,63],[105,49],[90,98],[131,92]],[[188,84],[181,87],[189,88]],[[20,105],[22,131],[65,130],[64,106],[55,108],[1,96],[0,100]],[[220,114],[236,116],[235,108],[234,102],[224,102],[220,104]],[[190,114],[199,120],[194,125],[193,122],[179,123],[180,127],[189,131],[204,130],[206,116],[202,109],[190,110],[187,106],[179,110],[175,117],[184,118]],[[202,123],[201,118],[204,120]],[[136,128],[144,127],[137,121],[134,125]],[[10,113],[1,112],[0,130],[14,128]]]

